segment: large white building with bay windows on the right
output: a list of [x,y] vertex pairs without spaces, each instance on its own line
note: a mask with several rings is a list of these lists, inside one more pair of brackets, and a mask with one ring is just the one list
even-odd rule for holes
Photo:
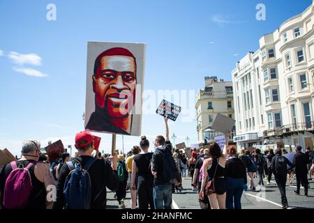
[[263,144],[313,148],[314,1],[260,38],[232,70],[238,148]]

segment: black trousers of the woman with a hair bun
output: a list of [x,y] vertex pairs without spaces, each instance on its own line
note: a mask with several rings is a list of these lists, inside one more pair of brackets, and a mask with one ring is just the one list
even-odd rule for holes
[[153,199],[153,182],[149,177],[138,176],[137,178],[137,196],[138,196],[138,208],[155,209],[154,199]]

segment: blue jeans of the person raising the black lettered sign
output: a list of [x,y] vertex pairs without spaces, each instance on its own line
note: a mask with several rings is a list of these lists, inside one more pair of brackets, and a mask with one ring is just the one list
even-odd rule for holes
[[153,197],[156,209],[171,209],[172,183],[166,183],[165,185],[154,185]]

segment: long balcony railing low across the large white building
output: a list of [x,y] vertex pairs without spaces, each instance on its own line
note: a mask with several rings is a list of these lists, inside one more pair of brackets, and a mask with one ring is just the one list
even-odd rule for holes
[[281,136],[283,134],[289,134],[290,132],[303,132],[303,131],[314,131],[314,121],[304,123],[293,123],[289,125],[283,125],[279,128],[271,130],[265,130],[263,132],[264,137]]

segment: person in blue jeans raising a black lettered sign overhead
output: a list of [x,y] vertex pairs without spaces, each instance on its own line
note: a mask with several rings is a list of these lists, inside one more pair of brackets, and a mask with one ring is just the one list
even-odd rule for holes
[[165,118],[166,139],[158,135],[154,141],[156,150],[151,158],[151,173],[154,175],[154,206],[156,209],[171,209],[172,183],[179,178],[176,164],[172,158],[169,141],[168,118]]

